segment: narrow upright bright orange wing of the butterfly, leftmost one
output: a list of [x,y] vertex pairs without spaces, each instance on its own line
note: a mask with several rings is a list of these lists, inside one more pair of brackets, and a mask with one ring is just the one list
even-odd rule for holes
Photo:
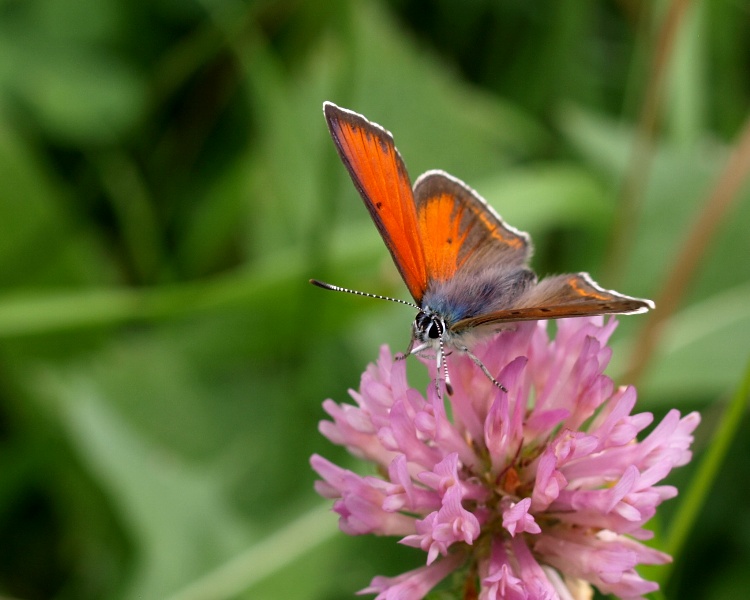
[[393,137],[362,115],[323,105],[341,160],[378,228],[393,262],[419,304],[428,272],[420,240],[411,181]]

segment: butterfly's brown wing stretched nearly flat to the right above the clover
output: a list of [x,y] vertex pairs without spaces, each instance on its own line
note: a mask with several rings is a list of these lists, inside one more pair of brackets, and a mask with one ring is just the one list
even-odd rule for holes
[[556,275],[530,288],[514,306],[463,319],[452,327],[462,331],[481,325],[607,314],[635,314],[654,307],[650,300],[605,290],[588,273]]

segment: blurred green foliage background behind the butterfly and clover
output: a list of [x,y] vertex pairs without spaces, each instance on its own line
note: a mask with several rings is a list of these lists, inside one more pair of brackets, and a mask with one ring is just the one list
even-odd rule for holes
[[363,468],[322,400],[413,318],[307,283],[407,297],[323,100],[476,188],[537,272],[658,301],[610,373],[703,423],[648,575],[745,598],[750,193],[714,194],[750,162],[737,0],[0,0],[0,594],[343,599],[424,560],[312,489],[313,452]]

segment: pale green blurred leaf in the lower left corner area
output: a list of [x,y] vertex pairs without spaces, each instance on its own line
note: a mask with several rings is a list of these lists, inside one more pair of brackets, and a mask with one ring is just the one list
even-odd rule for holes
[[136,547],[124,598],[160,598],[252,539],[224,497],[221,469],[184,462],[133,429],[83,378],[47,378],[61,425],[106,489]]

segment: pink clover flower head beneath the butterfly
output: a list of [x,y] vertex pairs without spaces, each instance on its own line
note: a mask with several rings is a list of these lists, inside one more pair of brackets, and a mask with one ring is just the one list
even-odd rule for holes
[[355,404],[323,404],[332,419],[323,435],[381,474],[311,458],[341,529],[399,536],[426,553],[423,567],[375,577],[362,593],[417,600],[459,569],[480,600],[657,589],[636,567],[670,557],[641,543],[644,524],[677,494],[659,482],[690,460],[699,415],[672,410],[639,440],[652,415],[631,414],[635,389],[603,374],[615,319],[557,323],[554,340],[546,322],[521,323],[474,349],[507,393],[453,353],[453,395],[430,385],[425,396],[384,346],[350,391]]

